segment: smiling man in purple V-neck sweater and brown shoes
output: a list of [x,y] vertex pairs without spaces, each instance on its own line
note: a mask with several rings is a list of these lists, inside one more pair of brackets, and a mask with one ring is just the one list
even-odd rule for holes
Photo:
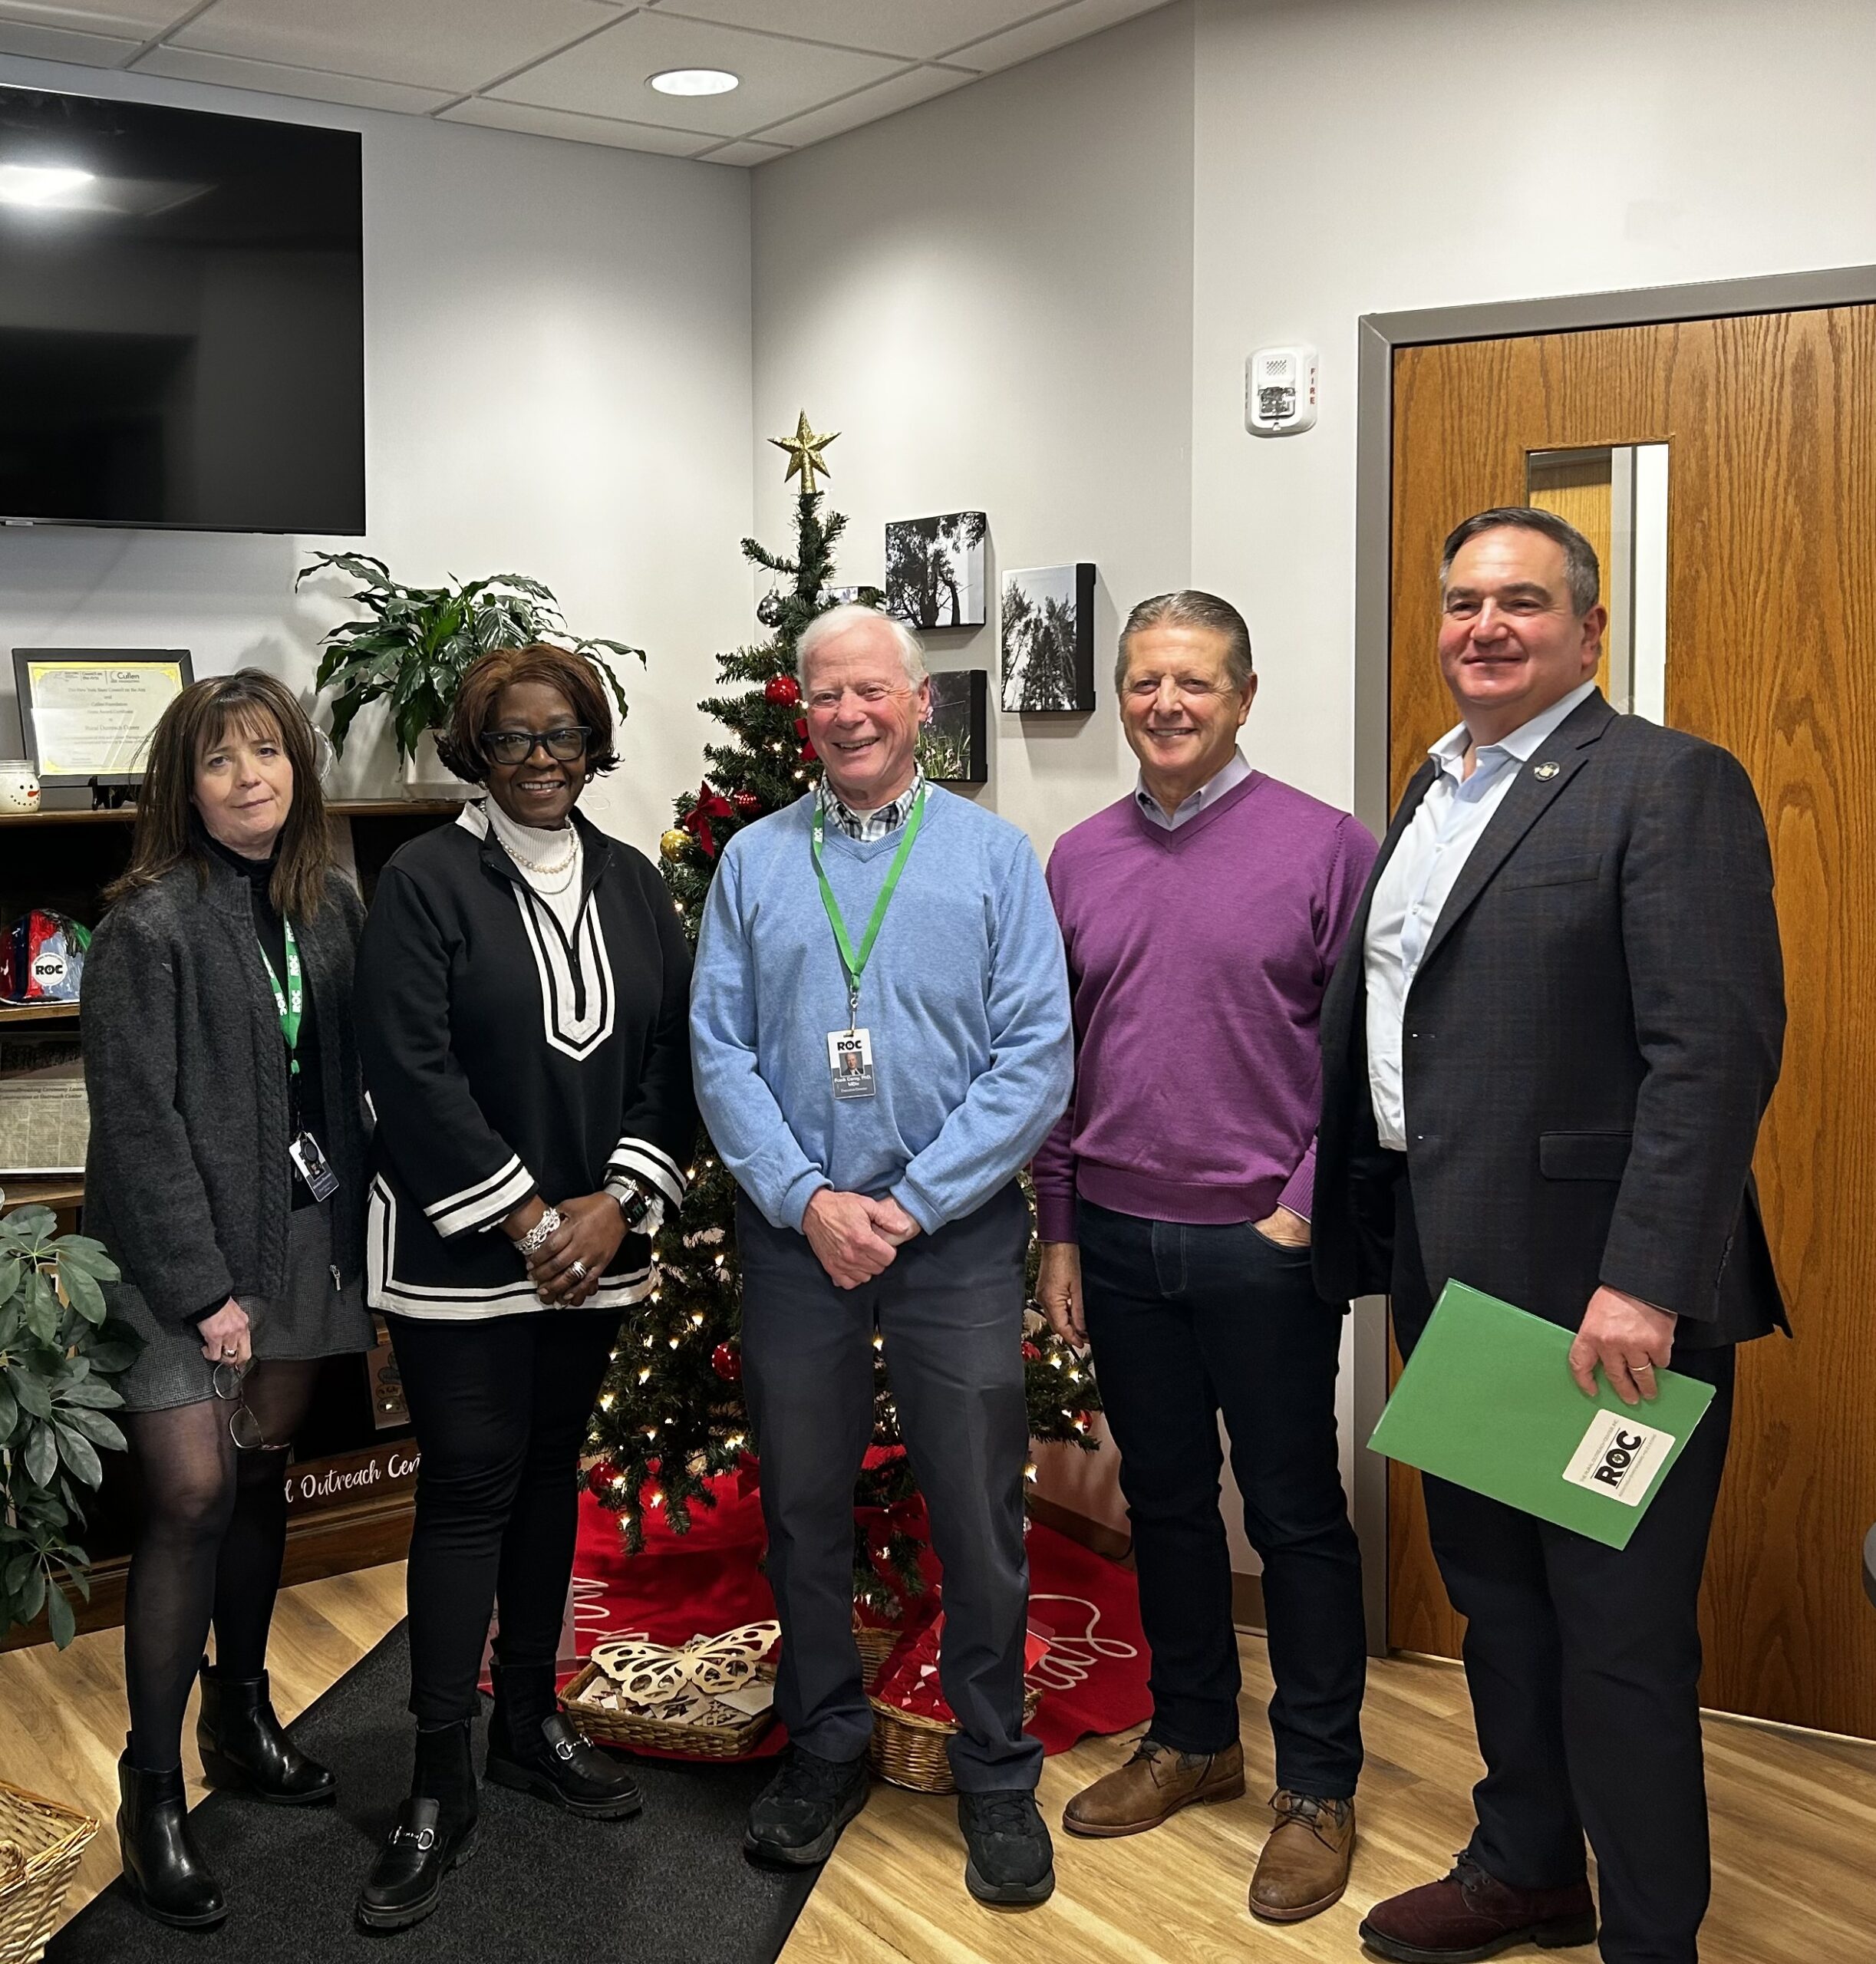
[[1139,786],[1049,860],[1075,1102],[1035,1157],[1039,1298],[1092,1341],[1133,1520],[1153,1724],[1078,1793],[1071,1834],[1137,1834],[1243,1793],[1218,1414],[1263,1559],[1275,1830],[1251,1913],[1348,1883],[1361,1770],[1361,1554],[1336,1453],[1342,1316],[1310,1281],[1316,1023],[1375,841],[1251,770],[1243,617],[1141,601],[1114,676]]

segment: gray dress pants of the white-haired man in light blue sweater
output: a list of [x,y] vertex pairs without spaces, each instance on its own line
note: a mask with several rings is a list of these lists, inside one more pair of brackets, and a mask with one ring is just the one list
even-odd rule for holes
[[823,1760],[856,1760],[872,1709],[853,1642],[853,1489],[872,1440],[872,1334],[945,1565],[939,1681],[965,1793],[1033,1789],[1023,1736],[1021,1318],[1029,1210],[1016,1184],[915,1235],[860,1288],[835,1288],[807,1237],[737,1202],[743,1389],[762,1461],[768,1579],[782,1620],[776,1711]]

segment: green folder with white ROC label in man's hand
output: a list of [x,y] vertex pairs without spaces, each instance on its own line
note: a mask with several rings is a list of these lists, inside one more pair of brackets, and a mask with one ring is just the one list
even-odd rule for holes
[[1623,1404],[1570,1375],[1573,1334],[1448,1282],[1367,1442],[1609,1548],[1628,1536],[1713,1400],[1713,1387],[1658,1371],[1652,1402]]

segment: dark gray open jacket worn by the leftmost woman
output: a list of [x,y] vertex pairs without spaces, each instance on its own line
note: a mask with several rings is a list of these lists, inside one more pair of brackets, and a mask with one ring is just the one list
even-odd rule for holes
[[[318,1017],[338,1174],[332,1235],[344,1281],[363,1269],[365,1112],[352,1039],[363,905],[332,874],[330,901],[295,921]],[[287,1294],[287,1049],[253,933],[248,882],[208,858],[177,866],[104,917],[84,960],[90,1153],[84,1231],[157,1322],[226,1296]]]

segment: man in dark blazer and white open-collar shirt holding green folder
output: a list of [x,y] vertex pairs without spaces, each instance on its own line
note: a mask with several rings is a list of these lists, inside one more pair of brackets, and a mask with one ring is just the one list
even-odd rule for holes
[[1695,1601],[1733,1345],[1786,1326],[1750,1178],[1784,970],[1752,786],[1597,691],[1597,577],[1544,511],[1446,542],[1462,723],[1322,1006],[1316,1284],[1391,1294],[1412,1351],[1456,1277],[1577,1332],[1585,1392],[1672,1365],[1715,1396],[1627,1550],[1424,1481],[1485,1779],[1454,1872],[1361,1925],[1405,1964],[1589,1942],[1585,1830],[1605,1964],[1693,1964],[1707,1907]]

